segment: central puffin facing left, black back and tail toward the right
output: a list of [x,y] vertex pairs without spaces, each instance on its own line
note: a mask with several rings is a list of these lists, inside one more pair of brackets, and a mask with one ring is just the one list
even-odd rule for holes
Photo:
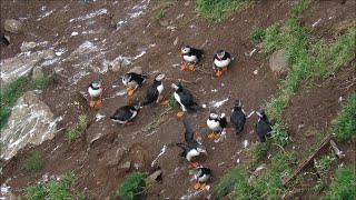
[[178,117],[182,117],[185,114],[185,111],[199,111],[201,110],[201,107],[195,101],[195,98],[191,96],[191,93],[184,89],[180,83],[175,84],[171,83],[171,88],[174,88],[176,91],[174,92],[174,97],[176,101],[180,104],[181,110],[177,113]]

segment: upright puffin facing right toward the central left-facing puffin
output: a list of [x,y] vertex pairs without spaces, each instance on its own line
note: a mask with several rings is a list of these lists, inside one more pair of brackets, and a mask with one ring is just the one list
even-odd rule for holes
[[[146,93],[146,99],[142,102],[142,106],[148,106],[151,104],[152,102],[159,102],[164,99],[161,96],[164,91],[164,83],[162,80],[166,78],[164,73],[160,73],[156,77],[154,80],[152,84],[148,87],[147,93]],[[164,101],[161,104],[168,104],[168,101]]]

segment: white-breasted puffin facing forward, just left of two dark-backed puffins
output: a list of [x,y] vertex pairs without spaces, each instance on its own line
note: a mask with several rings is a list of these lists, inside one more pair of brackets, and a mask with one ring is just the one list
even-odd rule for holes
[[219,117],[216,111],[210,111],[209,118],[207,119],[207,126],[211,130],[211,133],[208,134],[208,138],[218,139],[221,131],[227,127],[225,113],[221,113]]

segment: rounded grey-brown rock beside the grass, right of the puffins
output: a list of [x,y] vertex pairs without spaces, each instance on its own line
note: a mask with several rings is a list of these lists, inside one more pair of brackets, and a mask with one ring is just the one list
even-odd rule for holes
[[269,68],[275,76],[283,78],[288,73],[288,61],[284,49],[274,52],[269,58]]

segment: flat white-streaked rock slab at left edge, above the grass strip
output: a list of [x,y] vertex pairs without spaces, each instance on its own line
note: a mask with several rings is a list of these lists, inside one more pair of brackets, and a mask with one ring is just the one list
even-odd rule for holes
[[55,56],[55,51],[49,49],[33,52],[31,54],[21,53],[17,57],[2,60],[0,62],[1,87],[6,86],[12,79],[29,77],[37,62],[42,59],[53,58]]

